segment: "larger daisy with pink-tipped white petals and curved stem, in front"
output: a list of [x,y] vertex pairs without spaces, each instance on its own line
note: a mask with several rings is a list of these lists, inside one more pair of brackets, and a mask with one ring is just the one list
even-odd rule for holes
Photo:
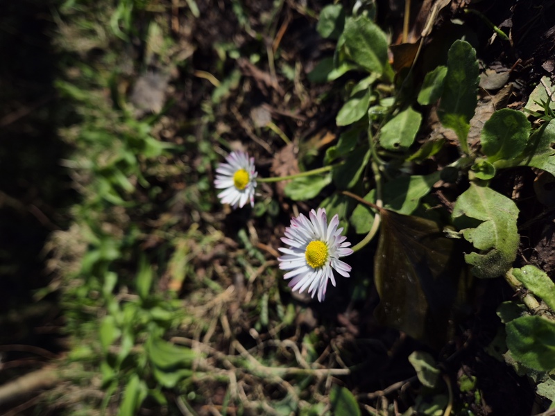
[[330,225],[327,225],[325,209],[312,209],[310,218],[300,214],[291,220],[291,226],[285,228],[285,237],[282,241],[289,248],[280,248],[284,256],[278,258],[280,269],[290,270],[285,273],[284,279],[291,279],[289,287],[293,291],[304,292],[308,288],[311,297],[318,294],[322,302],[328,279],[335,286],[333,270],[341,276],[349,277],[351,266],[339,260],[352,254],[348,248],[351,244],[342,236],[343,228],[339,225],[339,216],[334,215]]

